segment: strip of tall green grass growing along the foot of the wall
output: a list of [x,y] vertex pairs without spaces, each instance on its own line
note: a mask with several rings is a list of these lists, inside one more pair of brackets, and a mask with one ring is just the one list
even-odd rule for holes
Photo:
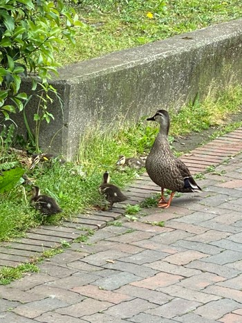
[[[186,104],[178,114],[171,113],[171,141],[174,136],[184,136],[210,126],[218,128],[216,136],[234,129],[234,124],[230,124],[230,115],[241,109],[242,87],[227,86],[224,91],[211,90],[209,94],[203,103],[197,100],[194,104]],[[35,178],[35,184],[41,187],[41,192],[58,201],[63,213],[41,216],[29,203],[30,187],[25,186],[24,189],[24,185],[18,185],[10,192],[0,194],[0,241],[21,237],[28,228],[40,223],[59,223],[63,217],[75,219],[75,214],[92,209],[93,205],[102,205],[103,199],[97,188],[106,170],[111,174],[111,183],[121,189],[129,185],[142,170],[128,168],[121,172],[115,167],[115,162],[120,154],[139,156],[149,151],[158,133],[158,124],[145,119],[144,116],[133,125],[120,122],[115,127],[112,124],[112,128],[106,130],[100,124],[93,124],[80,141],[80,153],[75,163],[46,163],[43,168],[26,169],[28,176]],[[236,127],[241,125],[242,122],[236,122]],[[1,163],[16,160],[15,155],[5,151]],[[157,199],[153,199],[147,201],[147,206],[156,203]]]

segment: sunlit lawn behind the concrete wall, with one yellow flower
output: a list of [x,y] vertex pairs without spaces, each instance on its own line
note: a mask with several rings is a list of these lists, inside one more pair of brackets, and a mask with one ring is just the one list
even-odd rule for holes
[[99,57],[242,16],[240,0],[78,2],[75,10],[83,25],[77,30],[75,48],[66,44],[58,54],[57,60],[62,64]]

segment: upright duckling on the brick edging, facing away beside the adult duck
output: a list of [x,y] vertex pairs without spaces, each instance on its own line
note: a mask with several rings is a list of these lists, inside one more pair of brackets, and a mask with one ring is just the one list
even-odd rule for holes
[[109,210],[112,209],[113,203],[118,203],[127,200],[127,196],[122,194],[120,188],[113,184],[109,184],[110,176],[109,172],[105,172],[103,175],[103,183],[99,187],[100,194],[105,196],[106,201],[109,202]]

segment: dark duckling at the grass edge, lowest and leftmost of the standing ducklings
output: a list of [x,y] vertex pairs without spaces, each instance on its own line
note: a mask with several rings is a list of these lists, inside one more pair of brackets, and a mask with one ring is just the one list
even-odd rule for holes
[[35,206],[36,210],[39,210],[44,215],[51,215],[62,212],[57,202],[48,195],[40,195],[39,187],[32,187],[32,198],[30,203]]

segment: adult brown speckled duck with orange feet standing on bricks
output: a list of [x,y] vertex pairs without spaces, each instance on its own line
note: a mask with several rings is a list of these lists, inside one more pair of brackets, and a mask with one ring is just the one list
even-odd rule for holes
[[[176,158],[169,147],[169,113],[158,110],[156,114],[147,118],[160,124],[160,131],[156,137],[145,163],[147,173],[151,180],[161,187],[161,198],[158,207],[169,207],[175,192],[199,192],[201,188],[196,184],[187,166]],[[164,189],[171,190],[169,201],[165,201]]]

